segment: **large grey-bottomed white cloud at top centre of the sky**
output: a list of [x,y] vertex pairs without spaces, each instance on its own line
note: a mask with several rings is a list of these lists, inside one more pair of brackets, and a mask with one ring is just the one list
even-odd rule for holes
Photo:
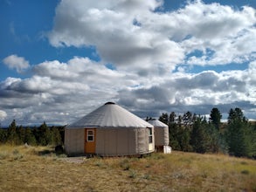
[[80,1],[69,4],[66,11],[67,3],[71,2],[61,2],[56,10],[49,35],[52,45],[95,45],[104,62],[142,65],[142,69],[152,64],[174,65],[183,59],[179,45],[141,25],[142,16],[154,16],[158,1],[104,1],[104,6]]

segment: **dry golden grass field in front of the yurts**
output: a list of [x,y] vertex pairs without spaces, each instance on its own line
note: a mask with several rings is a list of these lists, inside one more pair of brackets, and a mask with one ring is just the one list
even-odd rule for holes
[[66,158],[0,146],[0,191],[256,191],[256,161],[222,154]]

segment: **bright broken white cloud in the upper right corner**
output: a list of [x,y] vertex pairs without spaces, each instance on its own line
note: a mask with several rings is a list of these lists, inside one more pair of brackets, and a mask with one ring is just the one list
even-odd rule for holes
[[[233,10],[218,3],[190,3],[177,16],[177,20],[183,22],[183,28],[179,29],[184,33],[181,38],[189,37],[181,43],[191,54],[187,57],[188,64],[224,65],[255,59],[252,55],[256,39],[253,8]],[[201,51],[201,55],[194,51]]]

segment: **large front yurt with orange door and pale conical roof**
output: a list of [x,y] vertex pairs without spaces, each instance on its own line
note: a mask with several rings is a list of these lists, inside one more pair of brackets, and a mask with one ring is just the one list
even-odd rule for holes
[[155,151],[154,127],[113,102],[88,113],[65,129],[68,155],[121,156]]

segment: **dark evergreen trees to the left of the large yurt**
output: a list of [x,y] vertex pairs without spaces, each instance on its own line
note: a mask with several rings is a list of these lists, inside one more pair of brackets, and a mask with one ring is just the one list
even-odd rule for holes
[[16,121],[12,120],[10,126],[0,128],[0,143],[10,145],[63,145],[64,143],[64,127],[48,127],[44,122],[39,127],[23,127],[17,126]]

